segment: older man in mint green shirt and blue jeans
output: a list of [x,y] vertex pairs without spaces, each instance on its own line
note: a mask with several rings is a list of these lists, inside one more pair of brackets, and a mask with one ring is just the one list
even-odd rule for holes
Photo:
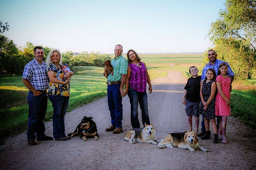
[[111,116],[111,126],[106,131],[113,131],[114,134],[123,132],[123,86],[126,82],[128,61],[123,57],[123,46],[117,44],[114,49],[115,58],[111,61],[114,74],[107,71],[107,102]]

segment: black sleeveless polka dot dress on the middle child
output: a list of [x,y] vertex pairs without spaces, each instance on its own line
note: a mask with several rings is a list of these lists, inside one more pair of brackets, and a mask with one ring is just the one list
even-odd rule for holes
[[[209,81],[208,83],[206,83],[206,81],[203,81],[202,93],[203,93],[203,100],[205,102],[207,102],[207,100],[209,99],[209,97],[211,95],[212,84],[213,84],[213,80]],[[213,97],[213,100],[209,103],[209,105],[207,106],[206,110],[203,110],[203,107],[204,107],[204,105],[201,100],[200,106],[199,106],[199,114],[203,115],[203,117],[205,117],[207,119],[213,119],[216,117],[215,116],[215,96]]]

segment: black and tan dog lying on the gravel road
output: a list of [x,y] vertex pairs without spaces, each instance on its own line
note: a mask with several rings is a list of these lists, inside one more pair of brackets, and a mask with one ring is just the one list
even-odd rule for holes
[[87,140],[87,138],[94,138],[98,140],[96,123],[92,120],[92,117],[84,117],[79,125],[76,126],[73,133],[69,133],[68,136],[80,136],[81,139]]

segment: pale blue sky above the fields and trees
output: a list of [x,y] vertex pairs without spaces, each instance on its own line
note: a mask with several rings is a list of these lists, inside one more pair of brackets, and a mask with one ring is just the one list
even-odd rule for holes
[[4,35],[34,45],[113,53],[203,52],[224,0],[0,0]]

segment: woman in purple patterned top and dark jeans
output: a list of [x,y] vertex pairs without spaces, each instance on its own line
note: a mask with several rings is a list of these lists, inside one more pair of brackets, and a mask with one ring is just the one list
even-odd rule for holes
[[128,73],[125,84],[124,97],[127,93],[131,104],[131,123],[133,128],[140,128],[138,119],[138,102],[141,109],[142,123],[150,124],[148,111],[148,96],[146,92],[149,84],[149,94],[152,92],[151,81],[145,63],[141,62],[134,50],[128,50]]

